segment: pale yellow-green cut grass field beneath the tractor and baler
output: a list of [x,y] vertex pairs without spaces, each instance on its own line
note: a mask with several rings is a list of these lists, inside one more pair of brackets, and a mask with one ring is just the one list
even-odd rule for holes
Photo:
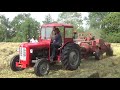
[[119,78],[120,77],[120,44],[112,44],[114,56],[104,56],[102,60],[94,58],[83,60],[78,70],[63,70],[61,65],[51,67],[49,75],[37,77],[33,68],[13,72],[9,67],[11,58],[17,54],[20,43],[0,43],[0,78]]

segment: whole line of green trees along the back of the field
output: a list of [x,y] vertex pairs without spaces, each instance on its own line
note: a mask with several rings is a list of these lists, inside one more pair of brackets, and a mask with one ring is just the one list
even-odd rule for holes
[[[79,12],[62,12],[54,21],[50,14],[46,15],[44,24],[61,22],[72,24],[77,32],[91,32],[97,38],[105,41],[120,42],[120,13],[119,12],[88,12],[88,17],[82,19]],[[89,28],[83,28],[83,21]],[[31,17],[31,14],[18,14],[12,21],[4,15],[0,15],[0,42],[23,42],[27,41],[27,35],[38,38],[40,21]]]

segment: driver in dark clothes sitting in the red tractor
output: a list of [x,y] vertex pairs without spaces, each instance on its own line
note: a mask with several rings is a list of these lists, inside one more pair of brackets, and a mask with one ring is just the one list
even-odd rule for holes
[[52,48],[52,54],[50,57],[50,61],[52,62],[54,57],[55,57],[55,52],[58,48],[60,48],[62,46],[62,37],[60,34],[60,31],[58,28],[54,28],[54,33],[55,33],[55,37],[52,38],[52,43],[51,43],[51,48]]

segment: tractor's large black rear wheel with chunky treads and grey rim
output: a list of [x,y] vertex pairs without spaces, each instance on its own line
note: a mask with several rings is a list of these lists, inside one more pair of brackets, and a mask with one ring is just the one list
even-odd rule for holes
[[80,66],[80,47],[75,43],[64,46],[61,53],[61,62],[65,69],[76,70]]

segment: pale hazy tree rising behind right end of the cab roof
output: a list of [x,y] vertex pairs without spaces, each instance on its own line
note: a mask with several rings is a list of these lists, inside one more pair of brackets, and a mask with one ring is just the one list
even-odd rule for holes
[[58,22],[72,24],[76,30],[82,31],[82,16],[78,12],[62,12],[58,15]]

